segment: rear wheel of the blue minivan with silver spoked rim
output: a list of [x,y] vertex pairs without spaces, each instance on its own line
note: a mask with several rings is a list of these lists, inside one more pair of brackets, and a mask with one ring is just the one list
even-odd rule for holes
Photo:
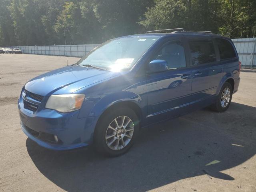
[[[228,96],[228,94],[226,94],[226,96],[225,96],[224,92],[226,92],[226,90],[230,91],[230,96]],[[229,82],[225,82],[223,84],[223,86],[220,90],[220,93],[218,94],[217,100],[216,100],[215,104],[212,106],[212,108],[216,112],[226,111],[228,109],[228,107],[230,106],[230,103],[232,100],[232,94],[233,94],[233,89],[232,89],[231,84]],[[228,97],[229,97],[229,99],[228,99]],[[227,98],[228,100],[226,100],[225,98]]]

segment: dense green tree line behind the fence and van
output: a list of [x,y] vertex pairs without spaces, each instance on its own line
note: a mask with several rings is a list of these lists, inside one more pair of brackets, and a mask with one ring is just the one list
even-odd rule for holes
[[252,37],[256,0],[0,0],[0,46],[98,44],[166,28]]

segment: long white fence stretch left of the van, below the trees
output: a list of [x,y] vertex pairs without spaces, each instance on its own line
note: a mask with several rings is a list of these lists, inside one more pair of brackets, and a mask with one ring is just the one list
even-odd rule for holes
[[83,57],[98,44],[86,45],[49,45],[49,46],[16,46],[8,48],[19,48],[22,53],[39,54],[39,55],[56,55],[56,56],[71,56]]

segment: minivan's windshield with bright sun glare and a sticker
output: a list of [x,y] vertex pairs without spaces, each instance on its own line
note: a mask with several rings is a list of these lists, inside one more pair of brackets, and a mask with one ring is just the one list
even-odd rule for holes
[[124,37],[109,40],[78,61],[80,66],[110,70],[130,69],[159,37]]

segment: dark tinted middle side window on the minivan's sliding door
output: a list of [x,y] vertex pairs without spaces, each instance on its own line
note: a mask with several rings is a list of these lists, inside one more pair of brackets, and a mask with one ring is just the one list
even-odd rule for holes
[[213,42],[210,40],[190,40],[192,66],[216,61]]

